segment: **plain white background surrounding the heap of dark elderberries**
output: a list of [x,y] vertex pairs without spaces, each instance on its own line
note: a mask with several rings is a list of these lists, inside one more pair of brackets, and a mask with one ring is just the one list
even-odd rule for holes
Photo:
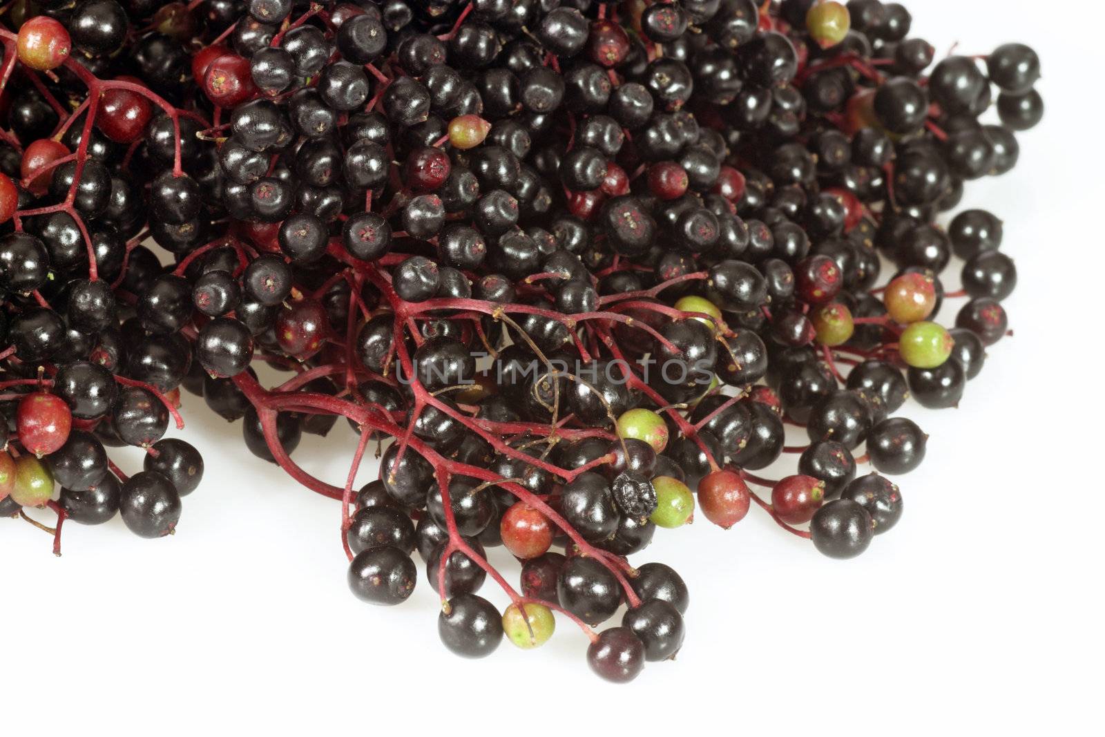
[[[990,349],[958,410],[905,408],[932,434],[928,459],[899,480],[905,516],[866,555],[823,558],[757,509],[729,531],[705,520],[659,530],[635,561],[666,561],[691,588],[677,661],[608,685],[565,621],[539,651],[504,642],[463,661],[438,641],[424,578],[402,607],[355,600],[337,504],[254,459],[240,425],[188,394],[183,436],[208,466],[176,536],[140,540],[118,519],[70,525],[55,559],[46,535],[0,520],[0,734],[671,734],[697,723],[748,735],[1101,734],[1105,13],[1094,2],[911,8],[914,34],[940,54],[955,41],[980,54],[1032,44],[1048,113],[1020,135],[1020,166],[970,185],[964,203],[1004,219],[1015,336]],[[352,445],[339,427],[296,456],[340,484]],[[140,462],[115,455],[126,471]]]

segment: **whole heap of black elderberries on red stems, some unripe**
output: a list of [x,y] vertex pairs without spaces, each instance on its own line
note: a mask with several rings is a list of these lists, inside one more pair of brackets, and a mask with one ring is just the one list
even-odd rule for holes
[[[933,66],[881,0],[42,7],[0,30],[0,512],[50,506],[59,543],[116,510],[173,529],[183,387],[340,502],[360,599],[404,601],[417,550],[450,650],[559,614],[629,681],[684,638],[683,580],[628,559],[657,527],[755,504],[863,552],[925,456],[894,413],[955,406],[1007,333],[1001,221],[934,223],[1041,119],[1028,46]],[[344,486],[291,457],[339,418]]]

